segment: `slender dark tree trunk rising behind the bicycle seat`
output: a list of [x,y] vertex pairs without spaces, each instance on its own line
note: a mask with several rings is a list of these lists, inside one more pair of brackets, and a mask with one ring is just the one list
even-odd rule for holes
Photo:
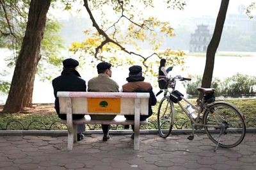
[[[229,0],[221,0],[220,10],[216,19],[214,33],[212,35],[211,42],[209,43],[206,51],[206,61],[204,68],[204,75],[202,78],[202,88],[211,88],[212,73],[214,68],[214,58],[216,50],[220,44],[221,34],[223,31],[224,22],[228,10]],[[199,98],[201,99],[204,93],[200,93]]]

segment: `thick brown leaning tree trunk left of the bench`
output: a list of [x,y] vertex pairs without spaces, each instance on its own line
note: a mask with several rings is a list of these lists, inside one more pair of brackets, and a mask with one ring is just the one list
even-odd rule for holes
[[51,0],[31,0],[28,23],[12,77],[12,84],[3,112],[19,112],[31,107],[36,67]]

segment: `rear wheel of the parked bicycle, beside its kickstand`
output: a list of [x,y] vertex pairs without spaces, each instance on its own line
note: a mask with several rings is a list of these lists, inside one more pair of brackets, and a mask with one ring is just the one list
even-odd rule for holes
[[205,132],[223,148],[240,144],[246,132],[243,114],[227,102],[216,102],[204,113]]

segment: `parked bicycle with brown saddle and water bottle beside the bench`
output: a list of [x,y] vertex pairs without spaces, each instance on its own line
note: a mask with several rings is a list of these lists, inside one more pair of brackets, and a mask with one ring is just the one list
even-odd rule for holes
[[[222,148],[232,148],[240,144],[246,133],[245,116],[234,105],[228,102],[215,102],[214,88],[197,88],[204,92],[204,97],[194,105],[184,98],[184,95],[175,90],[176,81],[191,81],[189,78],[177,75],[166,78],[166,95],[159,103],[157,111],[157,127],[161,137],[170,135],[175,124],[174,104],[178,104],[182,111],[188,116],[192,125],[192,134],[188,139],[193,140],[196,128],[204,128],[211,141]],[[184,100],[186,104],[195,109],[195,113],[189,113],[188,109],[180,102]],[[193,118],[193,116],[195,118]]]

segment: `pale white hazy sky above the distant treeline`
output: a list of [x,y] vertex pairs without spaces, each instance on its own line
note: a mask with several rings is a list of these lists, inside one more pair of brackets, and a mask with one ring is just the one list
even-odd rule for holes
[[[246,7],[253,1],[255,0],[230,0],[228,13],[237,13],[239,4],[244,4]],[[86,10],[83,6],[83,1],[80,1],[80,3],[81,4],[77,4],[77,6],[79,6],[81,12],[79,14],[73,13],[73,15],[80,15],[81,17],[86,17],[89,19],[88,13],[86,13]],[[152,15],[152,13],[154,13],[155,16],[163,20],[181,19],[183,17],[200,17],[203,15],[217,16],[221,0],[187,0],[186,3],[187,5],[185,6],[185,9],[182,11],[170,9],[167,10],[166,4],[163,3],[163,1],[156,0],[154,9],[147,8],[147,10],[143,12],[145,15]],[[141,8],[141,10],[143,9]],[[63,12],[62,10],[58,10],[58,12],[55,11],[53,13],[56,17],[61,19],[68,19],[68,16],[70,16],[70,12]]]

